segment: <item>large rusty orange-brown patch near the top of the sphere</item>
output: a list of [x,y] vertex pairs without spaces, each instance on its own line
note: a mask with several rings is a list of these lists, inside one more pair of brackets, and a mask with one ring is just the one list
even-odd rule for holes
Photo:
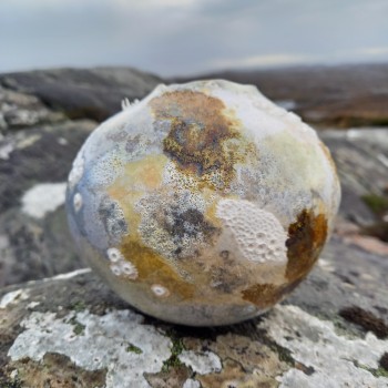
[[212,188],[227,187],[235,163],[244,163],[256,150],[238,131],[239,121],[216,98],[176,91],[153,99],[150,105],[156,122],[170,121],[164,152],[182,172],[195,174]]

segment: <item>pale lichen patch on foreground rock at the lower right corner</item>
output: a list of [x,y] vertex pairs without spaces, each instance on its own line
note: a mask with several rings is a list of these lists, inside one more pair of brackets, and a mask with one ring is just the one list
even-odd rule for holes
[[[279,346],[288,349],[296,363],[314,369],[306,374],[292,368],[279,380],[280,387],[386,387],[388,378],[375,377],[365,368],[377,369],[388,347],[387,340],[371,333],[349,339],[336,334],[334,324],[320,320],[296,306],[277,306],[258,325]],[[313,370],[312,369],[312,370]]]

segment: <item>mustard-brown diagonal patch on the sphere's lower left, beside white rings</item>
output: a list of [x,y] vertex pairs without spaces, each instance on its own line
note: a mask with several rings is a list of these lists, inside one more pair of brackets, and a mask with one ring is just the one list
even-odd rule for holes
[[193,297],[195,286],[182,279],[172,265],[151,248],[127,238],[120,251],[136,267],[140,280],[150,286],[160,284],[182,299]]

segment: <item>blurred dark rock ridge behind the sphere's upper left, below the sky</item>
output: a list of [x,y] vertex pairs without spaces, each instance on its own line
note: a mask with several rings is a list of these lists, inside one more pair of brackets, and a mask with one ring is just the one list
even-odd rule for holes
[[29,93],[71,119],[102,121],[121,101],[141,99],[162,79],[131,68],[57,69],[0,74],[0,85]]

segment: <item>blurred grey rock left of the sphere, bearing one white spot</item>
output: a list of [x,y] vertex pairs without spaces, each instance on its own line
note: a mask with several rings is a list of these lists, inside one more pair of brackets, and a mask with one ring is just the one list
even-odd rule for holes
[[72,161],[95,126],[69,121],[9,133],[0,142],[0,155],[9,146],[0,159],[0,287],[82,265],[64,191]]

